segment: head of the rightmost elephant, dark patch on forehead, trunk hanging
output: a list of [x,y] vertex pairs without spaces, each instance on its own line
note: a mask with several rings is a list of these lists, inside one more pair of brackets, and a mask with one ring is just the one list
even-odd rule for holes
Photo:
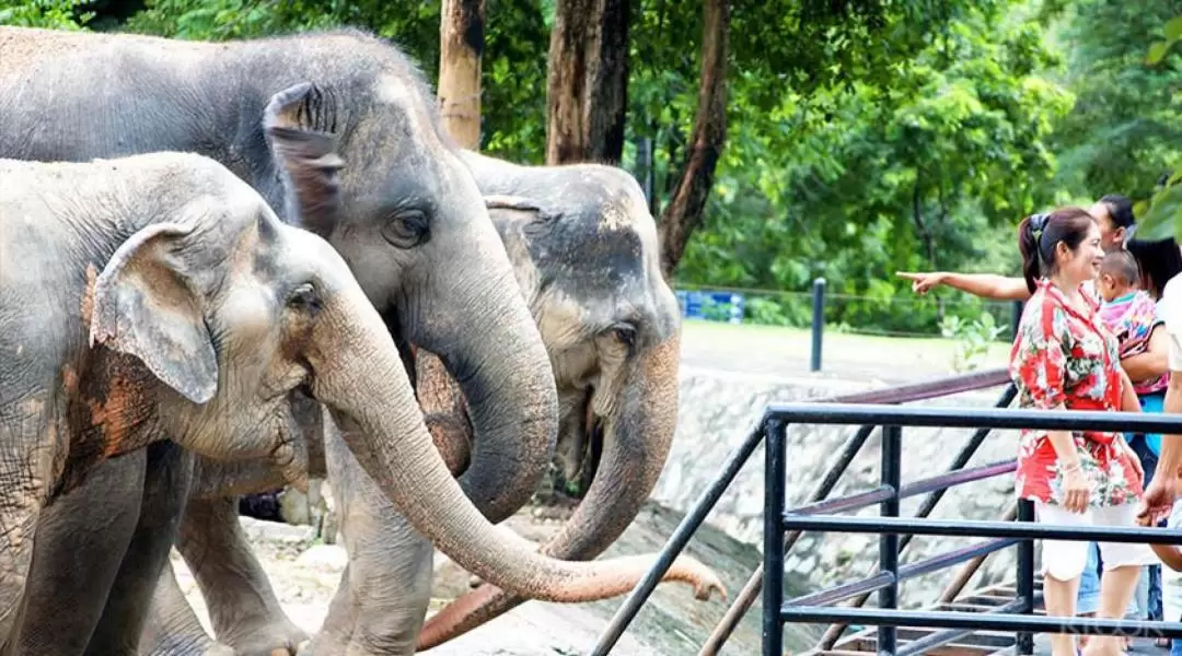
[[[621,169],[519,166],[474,152],[465,160],[550,354],[564,474],[591,480],[543,552],[591,559],[648,499],[677,419],[681,313],[661,274],[656,224]],[[485,585],[433,617],[420,649],[522,601]]]

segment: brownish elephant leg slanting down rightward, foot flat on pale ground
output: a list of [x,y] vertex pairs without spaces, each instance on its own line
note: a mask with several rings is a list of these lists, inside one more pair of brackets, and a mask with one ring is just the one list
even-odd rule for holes
[[294,654],[307,639],[284,612],[238,519],[238,499],[190,499],[177,549],[209,609],[217,642],[241,656]]

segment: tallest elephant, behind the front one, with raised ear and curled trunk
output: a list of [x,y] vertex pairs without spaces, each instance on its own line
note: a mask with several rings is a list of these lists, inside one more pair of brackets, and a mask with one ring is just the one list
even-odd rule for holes
[[[403,356],[409,345],[429,348],[461,381],[481,437],[480,466],[460,477],[465,494],[493,523],[528,500],[557,439],[548,357],[475,182],[400,51],[357,29],[197,42],[0,27],[0,157],[86,162],[162,150],[220,162],[281,221],[336,248]],[[117,568],[117,589],[129,592],[115,605],[151,593],[188,498],[191,454],[163,442],[149,451],[138,458],[157,466],[142,473],[137,513],[109,504],[142,529],[125,569],[105,560],[123,551],[117,532],[112,549],[85,549],[102,536],[70,530],[71,518],[85,499],[130,493],[129,477],[141,474],[129,472],[143,463],[99,463],[56,504],[61,519],[50,524],[60,539],[40,547],[41,562]],[[174,473],[175,484],[155,479]],[[58,583],[64,595],[85,585]],[[74,649],[52,641],[78,634],[78,618],[47,601],[28,612],[50,642],[27,649]]]

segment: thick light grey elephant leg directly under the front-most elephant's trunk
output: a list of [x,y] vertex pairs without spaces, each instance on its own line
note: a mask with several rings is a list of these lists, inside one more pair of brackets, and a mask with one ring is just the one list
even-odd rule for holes
[[434,546],[410,527],[326,424],[325,459],[349,566],[311,652],[411,655],[430,603]]

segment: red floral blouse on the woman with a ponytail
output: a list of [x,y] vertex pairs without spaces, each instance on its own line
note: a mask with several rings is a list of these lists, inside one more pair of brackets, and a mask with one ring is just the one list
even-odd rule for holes
[[[1080,290],[1085,291],[1085,290]],[[1086,313],[1069,304],[1050,281],[1038,283],[1022,311],[1009,353],[1009,376],[1019,406],[1113,412],[1121,408],[1121,356],[1116,337],[1103,326],[1095,299],[1083,294]],[[1117,440],[1119,433],[1076,432],[1084,475],[1091,484],[1090,506],[1135,503],[1141,479]],[[1022,499],[1063,503],[1065,484],[1046,431],[1021,432],[1017,492]]]

